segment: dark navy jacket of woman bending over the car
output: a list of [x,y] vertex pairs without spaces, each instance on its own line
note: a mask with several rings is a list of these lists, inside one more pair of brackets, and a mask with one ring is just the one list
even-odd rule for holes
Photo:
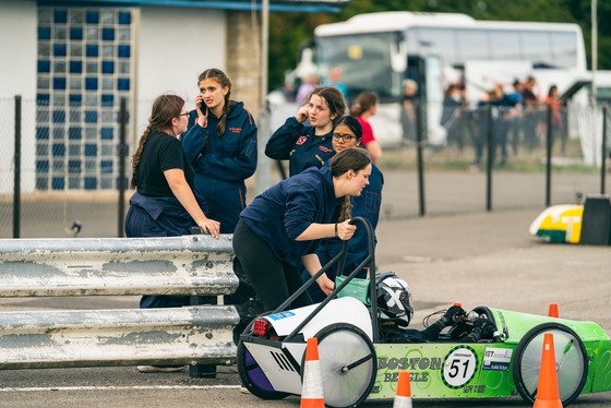
[[333,176],[328,168],[310,168],[267,189],[240,214],[249,228],[269,244],[276,257],[298,267],[313,253],[314,241],[296,241],[311,224],[333,224]]

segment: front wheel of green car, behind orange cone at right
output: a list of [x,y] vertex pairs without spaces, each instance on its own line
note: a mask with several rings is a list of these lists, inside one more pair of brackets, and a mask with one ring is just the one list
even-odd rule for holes
[[522,398],[535,403],[546,333],[553,334],[558,388],[565,407],[584,388],[588,376],[588,358],[579,336],[563,324],[540,324],[519,340],[514,357],[514,382]]

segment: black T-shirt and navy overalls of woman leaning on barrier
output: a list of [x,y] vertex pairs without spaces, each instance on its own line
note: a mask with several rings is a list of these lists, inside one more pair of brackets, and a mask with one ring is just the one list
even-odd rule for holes
[[[181,169],[193,190],[194,171],[178,139],[154,131],[148,136],[135,173],[136,191],[130,199],[125,217],[128,237],[178,237],[191,233],[195,221],[173,195],[164,171]],[[197,204],[207,216],[204,199],[194,192]],[[142,309],[180,308],[189,304],[189,296],[143,296]]]

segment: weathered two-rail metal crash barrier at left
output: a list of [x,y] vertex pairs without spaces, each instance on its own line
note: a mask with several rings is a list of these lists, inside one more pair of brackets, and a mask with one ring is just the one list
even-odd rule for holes
[[[0,240],[0,297],[236,291],[231,236]],[[0,312],[0,369],[230,364],[232,305]]]

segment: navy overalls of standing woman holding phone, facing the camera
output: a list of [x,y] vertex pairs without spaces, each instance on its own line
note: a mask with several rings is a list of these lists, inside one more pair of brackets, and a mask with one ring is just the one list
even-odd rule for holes
[[225,133],[219,137],[219,118],[208,110],[205,128],[191,111],[189,128],[181,135],[187,159],[195,168],[195,190],[206,200],[209,218],[220,223],[220,233],[232,233],[245,208],[244,180],[256,170],[256,124],[244,105],[231,101]]

